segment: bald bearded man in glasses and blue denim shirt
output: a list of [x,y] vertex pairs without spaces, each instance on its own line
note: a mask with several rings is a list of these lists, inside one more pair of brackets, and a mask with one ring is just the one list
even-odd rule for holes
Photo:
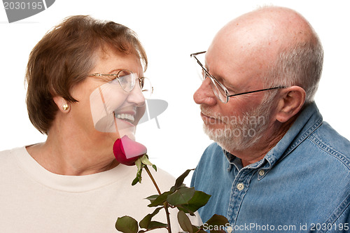
[[[350,142],[314,103],[323,49],[288,8],[241,15],[197,52],[204,151],[192,185],[212,195],[203,222],[235,232],[350,231]],[[203,60],[201,59],[203,58]]]

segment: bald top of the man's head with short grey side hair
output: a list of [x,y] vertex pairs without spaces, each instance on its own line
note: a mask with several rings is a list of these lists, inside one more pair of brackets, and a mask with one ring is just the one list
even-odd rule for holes
[[323,63],[321,43],[309,22],[282,7],[259,8],[232,20],[218,31],[207,53],[230,59],[236,71],[247,79],[259,78],[265,87],[299,85],[307,92],[307,103],[313,100]]

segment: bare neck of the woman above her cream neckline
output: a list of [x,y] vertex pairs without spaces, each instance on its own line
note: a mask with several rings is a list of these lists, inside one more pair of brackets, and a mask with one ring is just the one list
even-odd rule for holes
[[[66,176],[82,176],[107,171],[118,165],[113,156],[113,140],[99,142],[83,135],[50,131],[44,143],[27,147],[31,157],[48,171]],[[72,136],[74,135],[74,136]]]

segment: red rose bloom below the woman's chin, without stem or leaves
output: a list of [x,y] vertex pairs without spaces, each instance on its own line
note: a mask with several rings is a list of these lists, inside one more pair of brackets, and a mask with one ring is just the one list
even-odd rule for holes
[[118,162],[132,166],[139,157],[147,153],[147,148],[125,135],[116,140],[113,145],[113,153]]

